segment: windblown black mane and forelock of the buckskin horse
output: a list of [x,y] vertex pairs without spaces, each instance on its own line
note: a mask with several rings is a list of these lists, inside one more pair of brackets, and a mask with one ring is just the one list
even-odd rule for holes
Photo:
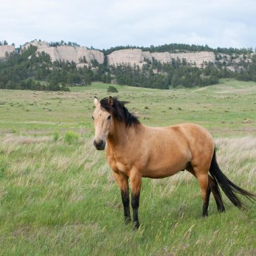
[[129,113],[128,109],[125,108],[125,104],[129,103],[128,101],[119,101],[117,100],[117,97],[113,97],[112,99],[112,106],[108,102],[108,97],[100,100],[100,106],[102,110],[106,110],[108,113],[113,115],[114,118],[124,122],[127,126],[140,123],[139,119],[133,113]]

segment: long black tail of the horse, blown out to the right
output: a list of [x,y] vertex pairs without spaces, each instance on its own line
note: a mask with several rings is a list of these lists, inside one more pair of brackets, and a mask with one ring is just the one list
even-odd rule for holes
[[230,181],[224,173],[220,170],[220,167],[218,166],[218,163],[216,161],[216,151],[214,149],[214,156],[212,157],[212,162],[210,166],[210,174],[212,177],[217,181],[218,185],[222,188],[228,199],[234,203],[237,207],[242,207],[244,203],[237,197],[236,194],[243,195],[247,197],[250,201],[253,203],[256,203],[256,195],[253,193],[250,193],[244,189],[241,189],[241,187],[238,187],[232,181]]

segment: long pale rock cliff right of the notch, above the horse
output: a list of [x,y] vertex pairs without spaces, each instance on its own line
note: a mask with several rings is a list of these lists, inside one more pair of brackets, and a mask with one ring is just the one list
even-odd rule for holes
[[160,61],[161,63],[171,63],[172,59],[186,59],[187,63],[201,67],[204,62],[215,62],[215,54],[213,52],[201,51],[195,53],[150,53],[143,52],[141,49],[124,49],[119,51],[114,51],[110,53],[107,57],[108,65],[113,64],[129,64],[129,65],[139,65],[146,64],[147,61],[152,61],[152,59]]

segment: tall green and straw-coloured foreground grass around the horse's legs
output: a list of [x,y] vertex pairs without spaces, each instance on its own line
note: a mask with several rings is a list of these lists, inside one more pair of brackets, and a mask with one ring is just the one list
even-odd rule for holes
[[[65,135],[64,135],[65,136]],[[219,138],[223,172],[255,191],[256,139]],[[92,139],[1,137],[0,251],[3,255],[253,255],[255,207],[214,199],[201,219],[201,196],[189,172],[143,179],[137,232],[123,223],[119,188]]]

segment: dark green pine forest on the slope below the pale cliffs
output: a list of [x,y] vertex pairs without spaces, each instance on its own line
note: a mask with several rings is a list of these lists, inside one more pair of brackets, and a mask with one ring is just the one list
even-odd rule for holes
[[[0,63],[0,89],[19,90],[63,90],[69,86],[90,86],[94,81],[111,82],[127,86],[168,89],[183,86],[210,86],[223,77],[256,82],[256,55],[250,61],[243,57],[239,62],[232,58],[222,62],[204,63],[195,67],[185,59],[172,59],[171,63],[160,63],[153,59],[144,65],[108,65],[94,60],[88,63],[81,58],[83,67],[73,62],[51,61],[50,55],[36,53],[36,46],[30,46],[20,54],[10,53]],[[232,67],[232,69],[230,69]]]

